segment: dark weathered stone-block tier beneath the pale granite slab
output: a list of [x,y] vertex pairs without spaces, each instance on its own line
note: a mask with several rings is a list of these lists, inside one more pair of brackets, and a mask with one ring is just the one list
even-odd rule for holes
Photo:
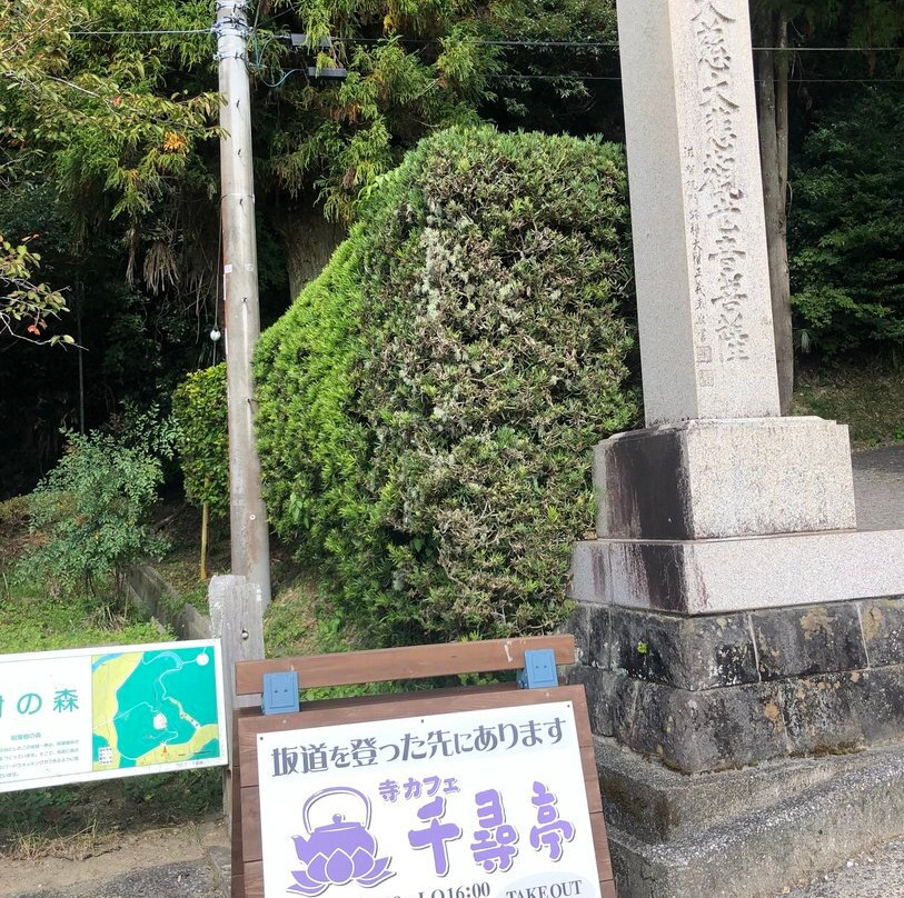
[[594,732],[684,774],[904,738],[904,597],[683,617],[580,602]]

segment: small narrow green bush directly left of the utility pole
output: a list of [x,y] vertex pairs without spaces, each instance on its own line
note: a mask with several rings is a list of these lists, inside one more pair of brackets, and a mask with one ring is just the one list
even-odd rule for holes
[[186,498],[208,503],[210,512],[229,513],[229,438],[227,436],[226,365],[193,371],[172,395],[176,450],[185,477]]

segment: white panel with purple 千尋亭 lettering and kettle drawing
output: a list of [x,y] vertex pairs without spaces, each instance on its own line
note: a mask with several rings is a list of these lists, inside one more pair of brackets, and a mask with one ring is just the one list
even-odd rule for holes
[[598,898],[570,702],[258,735],[266,898]]

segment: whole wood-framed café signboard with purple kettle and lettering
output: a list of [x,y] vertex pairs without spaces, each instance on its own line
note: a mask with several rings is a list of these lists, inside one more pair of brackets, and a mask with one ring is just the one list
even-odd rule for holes
[[[491,645],[470,643],[485,653]],[[405,676],[406,650],[387,651],[395,667],[386,676]],[[359,655],[381,679],[380,652],[332,656],[337,676],[354,676]],[[239,692],[249,682],[242,668],[287,661],[298,662],[301,682],[305,665],[317,663],[239,663]],[[418,667],[408,676],[425,676]],[[246,709],[236,731],[235,898],[615,898],[580,686]]]

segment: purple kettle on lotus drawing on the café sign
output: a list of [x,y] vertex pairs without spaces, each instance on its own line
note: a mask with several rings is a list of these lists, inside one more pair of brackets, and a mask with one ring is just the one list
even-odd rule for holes
[[[329,796],[351,795],[364,806],[364,822],[346,820],[341,814],[332,815],[332,822],[311,828],[311,808]],[[301,808],[301,821],[307,836],[292,836],[295,852],[304,870],[292,870],[295,885],[289,891],[314,898],[330,886],[356,882],[369,889],[395,876],[387,869],[391,857],[377,857],[377,840],[368,832],[370,801],[367,796],[349,786],[334,786],[311,795]]]

